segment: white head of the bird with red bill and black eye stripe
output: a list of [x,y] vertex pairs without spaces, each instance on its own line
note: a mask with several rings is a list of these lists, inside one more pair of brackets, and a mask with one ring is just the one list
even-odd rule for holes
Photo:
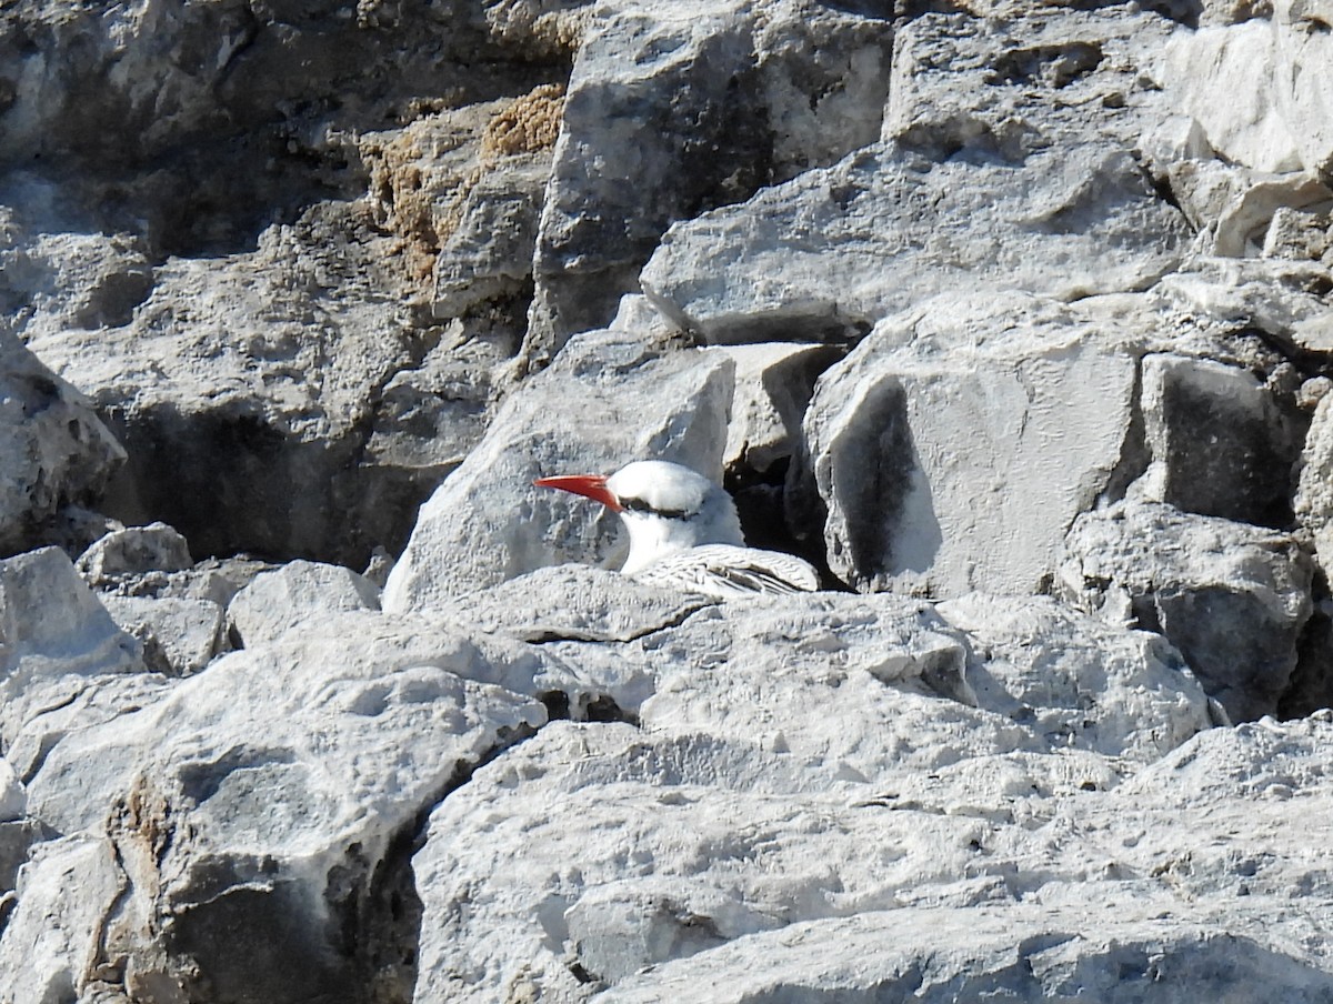
[[700,544],[745,543],[732,497],[681,464],[639,460],[611,477],[541,477],[535,484],[595,499],[620,513],[629,531],[625,575]]

